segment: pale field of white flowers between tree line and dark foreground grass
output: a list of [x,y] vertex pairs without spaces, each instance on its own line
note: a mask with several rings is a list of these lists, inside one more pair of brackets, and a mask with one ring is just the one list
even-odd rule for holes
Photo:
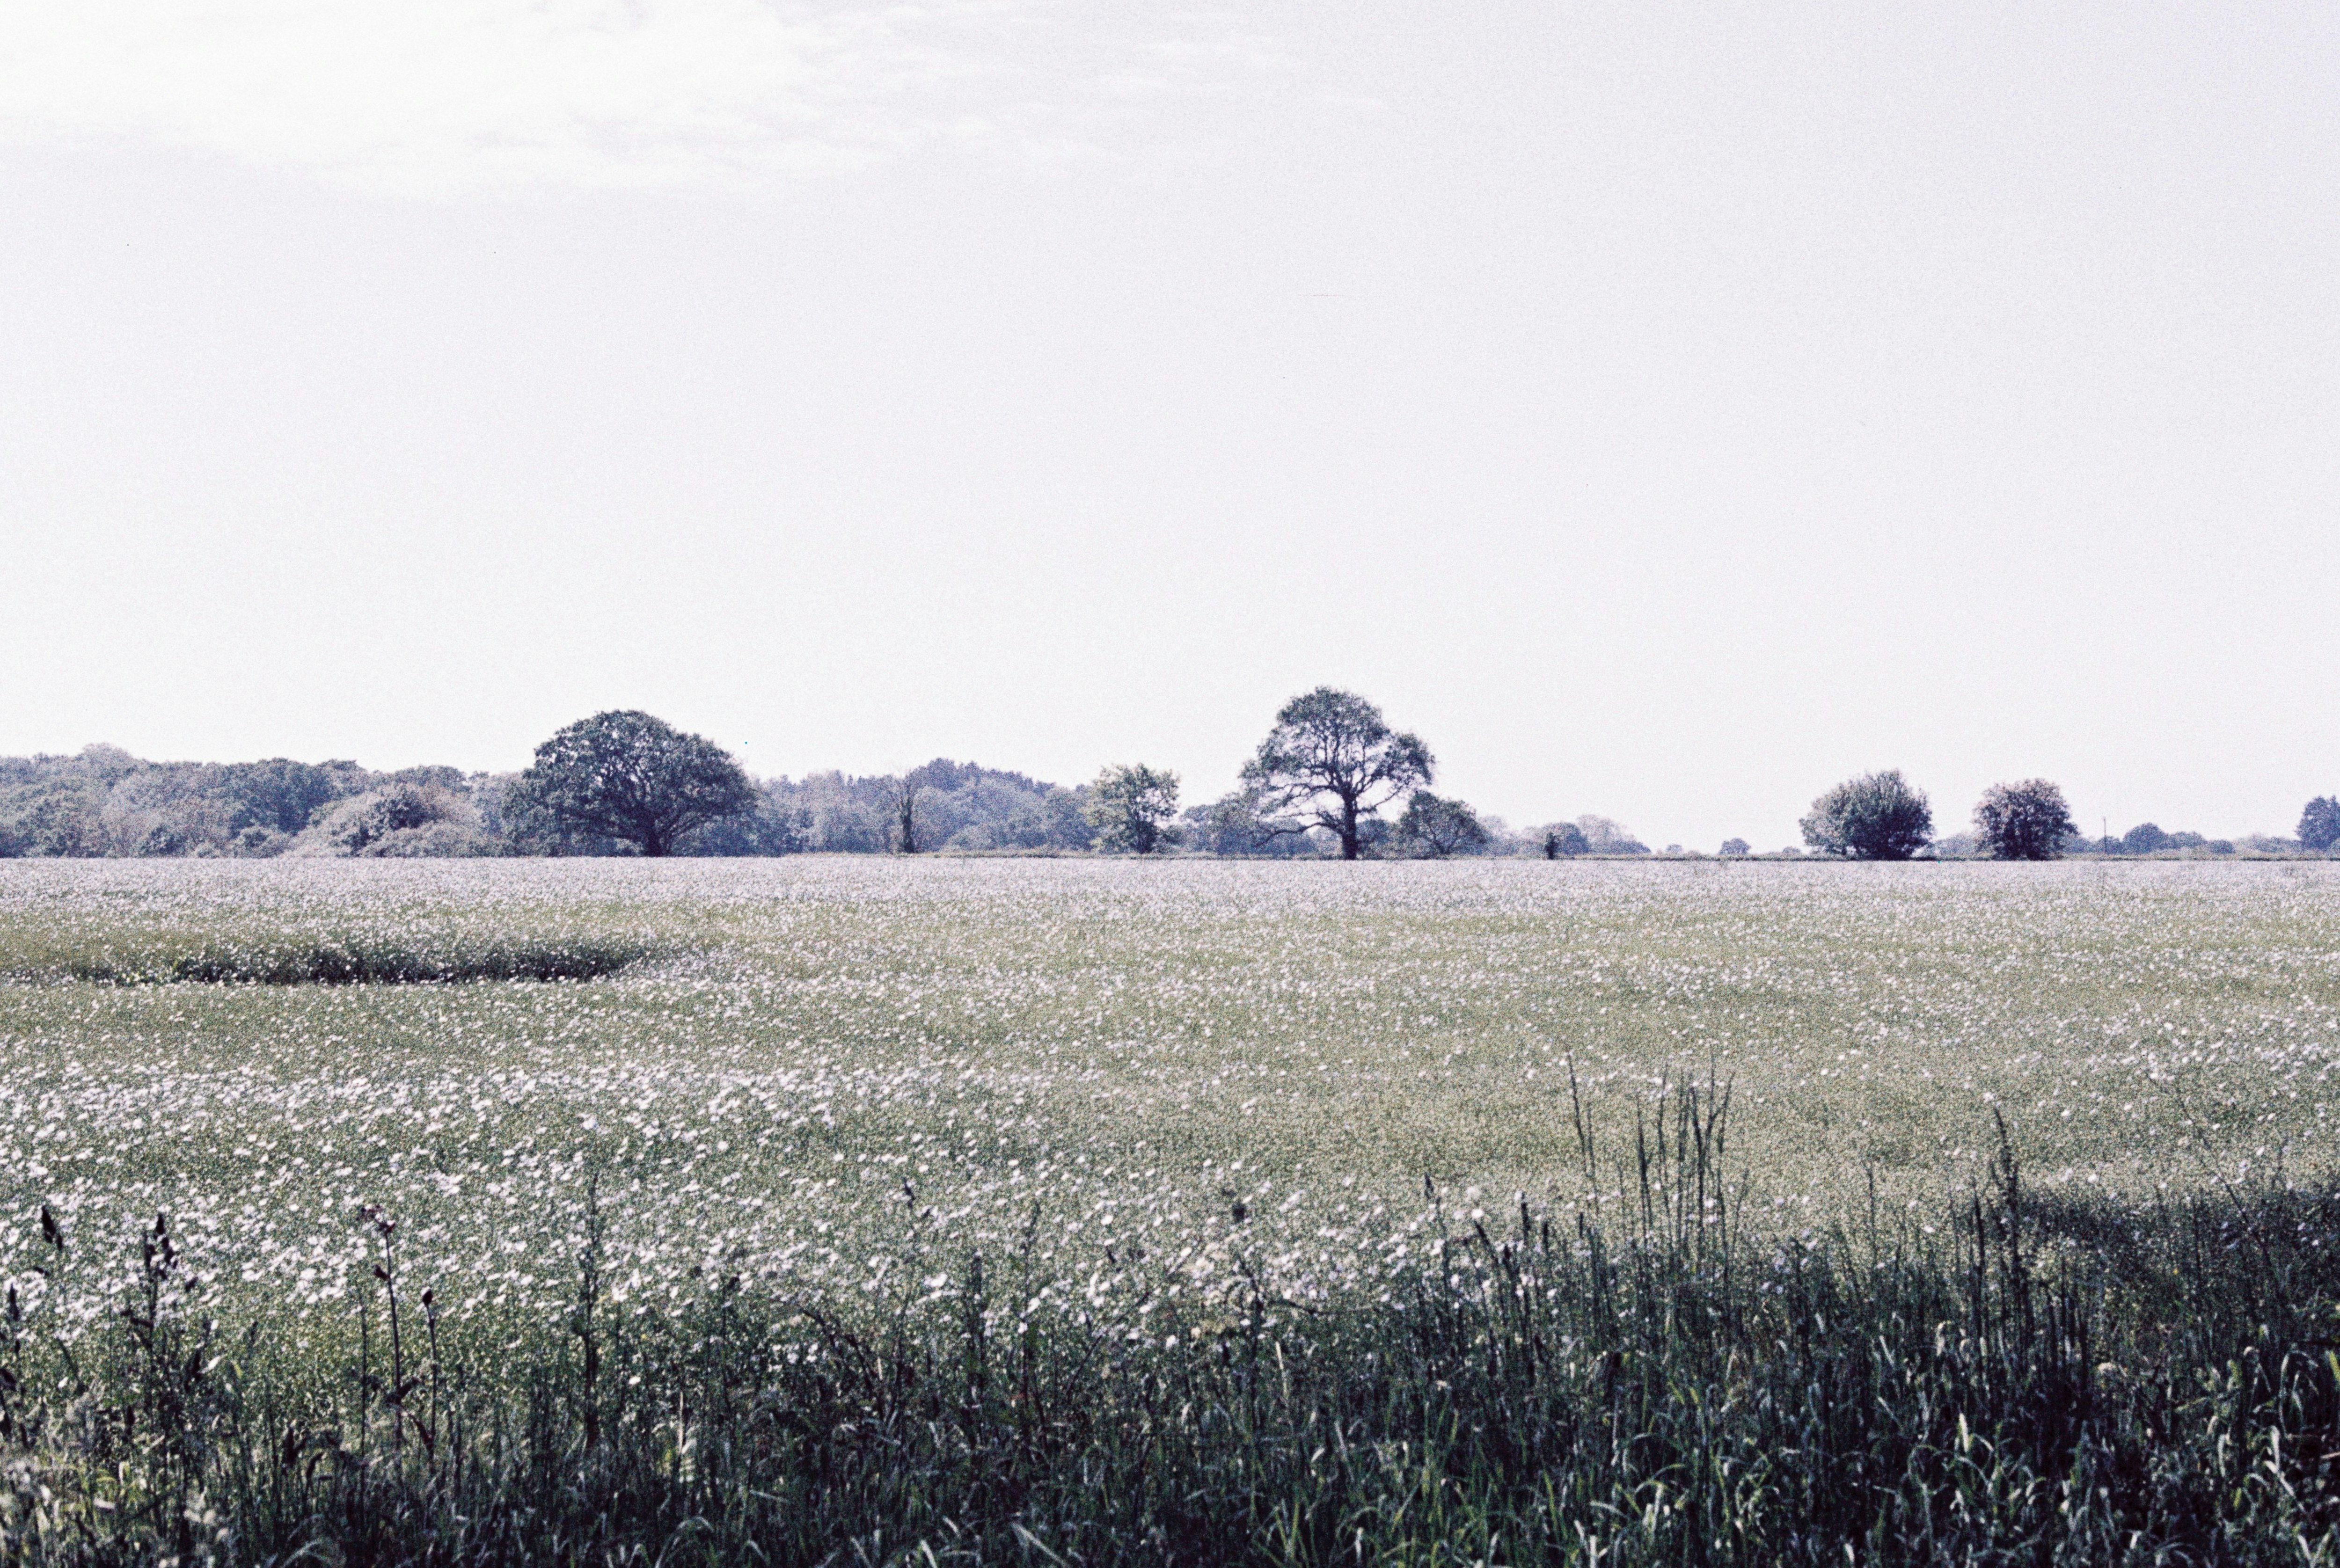
[[[283,1388],[379,1353],[384,1261],[407,1334],[431,1287],[494,1404],[545,1346],[576,1371],[580,1259],[639,1355],[723,1290],[775,1364],[887,1322],[1027,1364],[1278,1332],[1329,1355],[1327,1325],[1420,1311],[1470,1231],[1488,1278],[1491,1236],[1554,1224],[1570,1266],[1666,1236],[1699,1280],[1715,1231],[1774,1259],[1865,1238],[1874,1268],[1881,1233],[1956,1257],[1966,1212],[1987,1252],[2010,1151],[2033,1203],[2104,1215],[2335,1165],[2321,864],[16,861],[0,971],[23,1355],[94,1360],[152,1287],[147,1346],[166,1212],[176,1311],[227,1325],[183,1332],[246,1325]],[[379,1428],[365,1376],[344,1437]],[[1580,1514],[1554,1500],[1530,1556],[1601,1559]],[[966,1540],[1039,1528],[999,1519]],[[1334,1561],[1341,1531],[1364,1559],[1341,1526],[1275,1561]]]

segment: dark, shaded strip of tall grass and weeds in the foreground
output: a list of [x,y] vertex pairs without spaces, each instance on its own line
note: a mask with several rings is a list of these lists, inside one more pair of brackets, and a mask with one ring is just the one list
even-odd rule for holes
[[906,1217],[901,1292],[620,1313],[594,1203],[559,1325],[442,1343],[377,1215],[353,1332],[295,1353],[206,1318],[159,1217],[103,1343],[9,1320],[0,1559],[2340,1559],[2340,1184],[2047,1203],[2003,1137],[1926,1224],[1774,1233],[1727,1128],[1711,1086],[1608,1158],[1580,1116],[1603,1203],[1427,1189],[1427,1259],[1322,1304],[1238,1203],[1226,1287],[1048,1327],[1037,1273],[1149,1259]]

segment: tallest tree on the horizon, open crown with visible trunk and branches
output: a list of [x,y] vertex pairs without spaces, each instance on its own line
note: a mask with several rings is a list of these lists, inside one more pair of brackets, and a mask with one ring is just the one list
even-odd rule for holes
[[[1357,859],[1360,824],[1383,805],[1430,784],[1430,747],[1392,730],[1364,697],[1317,686],[1285,702],[1275,728],[1243,768],[1275,831],[1324,828],[1341,859]],[[1294,817],[1287,817],[1294,814]]]

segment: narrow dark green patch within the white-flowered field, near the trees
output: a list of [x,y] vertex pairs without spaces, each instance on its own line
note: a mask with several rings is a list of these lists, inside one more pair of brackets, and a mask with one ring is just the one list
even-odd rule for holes
[[592,981],[655,957],[634,936],[412,938],[395,934],[285,936],[44,955],[21,978],[101,985],[421,985],[452,981]]

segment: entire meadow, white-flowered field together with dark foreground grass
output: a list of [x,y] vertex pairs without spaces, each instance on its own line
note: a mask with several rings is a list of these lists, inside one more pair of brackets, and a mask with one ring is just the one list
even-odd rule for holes
[[[0,864],[0,1439],[26,1456],[0,1542],[26,1561],[101,1561],[101,1538],[218,1561],[321,1542],[335,1561],[1998,1561],[2052,1519],[2083,1540],[2071,1444],[2090,1439],[2040,1425],[2052,1376],[2115,1367],[2134,1404],[2157,1357],[2164,1416],[2122,1421],[2167,1458],[2186,1446],[2153,1423],[2211,1397],[2204,1346],[2282,1332],[2298,1367],[2235,1374],[2235,1409],[2291,1399],[2265,1418],[2277,1449],[2331,1414],[2335,894],[2340,866],[2181,861]],[[1970,1526],[1956,1552],[1933,1502],[1909,1535],[1930,1547],[1877,1535],[1870,1493],[1867,1535],[1814,1526],[1818,1493],[1715,1502],[1746,1474],[1699,1481],[1680,1453],[1722,1428],[1657,1444],[1664,1463],[1617,1439],[1594,1491],[1523,1500],[1575,1463],[1528,1428],[1575,1411],[1580,1453],[1584,1411],[1622,1409],[1596,1320],[1661,1322],[1636,1341],[1659,1367],[1689,1334],[1713,1399],[1769,1376],[1750,1367],[1795,1322],[1853,1334],[1806,1343],[1814,1364],[1895,1336],[1942,1367],[1998,1355],[2019,1376],[1938,1371],[1975,1390],[1973,1421],[2029,1421],[2052,1465],[2003,1477],[2003,1517],[1940,1491]],[[1495,1369],[1514,1334],[1542,1346],[1533,1421]],[[2134,1355],[2104,1360],[2106,1334]],[[431,1374],[407,1376],[426,1336]],[[1273,1392],[1261,1357],[1273,1411],[1243,1407]],[[1643,1435],[1687,1409],[1652,1376]],[[1465,1383],[1495,1404],[1432,1430],[1418,1397]],[[1338,1416],[1357,1390],[1369,1409]],[[1940,1423],[1973,1423],[1926,1399],[1912,1453],[1947,1477]],[[112,1437],[91,1414],[115,1407],[208,1437],[140,1460],[136,1418]],[[1411,1435],[1383,1430],[1399,1407]],[[737,1472],[704,1456],[718,1409]],[[779,1425],[749,1442],[751,1411]],[[1116,1435],[1100,1411],[1123,1411]],[[463,1421],[468,1481],[440,1474]],[[1488,1460],[1509,1423],[1519,1453]],[[2230,1446],[2253,1423],[2235,1414]],[[618,1432],[644,1444],[632,1481]],[[1778,1451],[1764,1432],[1741,1432],[1750,1453]],[[1343,1470],[1324,1453],[1350,1437],[1374,1458]],[[2314,1442],[2310,1460],[2340,1458],[2340,1432]],[[229,1505],[232,1470],[274,1479]],[[688,1500],[716,1474],[732,1524]],[[2267,1474],[2291,1493],[2270,1484],[2279,1526],[2216,1535],[2244,1493],[2211,1474],[2202,1495],[2232,1507],[2209,1524],[2172,1502],[2085,1540],[2333,1561],[2326,1493]]]

